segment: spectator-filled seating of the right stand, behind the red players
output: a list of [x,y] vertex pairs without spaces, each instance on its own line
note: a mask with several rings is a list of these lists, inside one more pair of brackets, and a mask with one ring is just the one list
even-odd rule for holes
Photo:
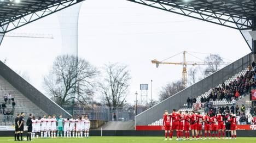
[[[255,72],[256,69],[251,70],[250,67],[242,70],[231,78],[225,80],[222,84],[216,86],[216,88],[212,88],[205,92],[205,94],[196,97],[196,103],[193,104],[193,107],[181,108],[180,110],[183,112],[185,110],[197,110],[200,111],[200,113],[205,114],[205,109],[208,108],[207,112],[210,114],[211,109],[214,110],[214,113],[218,113],[219,110],[222,112],[225,110],[230,111],[231,105],[238,105],[238,107],[241,107],[242,104],[246,105],[245,102],[249,101],[250,91],[255,89]],[[236,96],[235,93],[237,92],[239,93],[239,96]],[[185,103],[184,107],[188,107],[188,103]],[[251,121],[253,115],[250,113],[250,108],[245,107],[245,109],[245,113],[250,117],[249,121]],[[236,114],[238,114],[237,121],[238,125],[240,125],[242,123],[240,123],[239,119],[242,113],[239,111],[239,113]],[[162,126],[162,119],[150,123],[149,126]]]

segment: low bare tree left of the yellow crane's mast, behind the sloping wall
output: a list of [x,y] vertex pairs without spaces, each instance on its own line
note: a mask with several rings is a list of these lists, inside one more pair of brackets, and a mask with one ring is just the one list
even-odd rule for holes
[[166,86],[162,87],[159,95],[159,101],[164,101],[166,98],[176,94],[177,92],[184,89],[181,80],[176,82],[168,83]]

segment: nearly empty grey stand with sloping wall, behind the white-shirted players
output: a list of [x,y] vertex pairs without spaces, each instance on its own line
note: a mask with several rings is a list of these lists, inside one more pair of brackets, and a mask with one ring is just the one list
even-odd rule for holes
[[[0,115],[0,122],[3,125],[10,125],[13,122],[17,113],[24,112],[25,114],[32,113],[35,116],[44,114],[61,114],[63,117],[70,117],[66,110],[62,109],[50,98],[43,95],[25,79],[11,70],[7,65],[0,61],[0,103],[4,103],[4,94],[11,94],[15,101],[13,108],[12,104],[5,104],[5,111],[10,111],[10,115]],[[2,106],[1,106],[2,107]],[[1,108],[3,110],[3,108]],[[7,119],[8,118],[8,119]],[[7,121],[8,120],[8,121]],[[3,122],[5,121],[5,122]]]

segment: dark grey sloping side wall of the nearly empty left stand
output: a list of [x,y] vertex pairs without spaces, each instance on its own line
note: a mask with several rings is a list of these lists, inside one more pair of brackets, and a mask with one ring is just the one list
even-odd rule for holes
[[0,61],[0,75],[47,114],[71,115]]

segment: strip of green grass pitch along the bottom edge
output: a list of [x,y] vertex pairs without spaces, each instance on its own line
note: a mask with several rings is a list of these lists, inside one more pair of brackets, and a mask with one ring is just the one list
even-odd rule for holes
[[[34,139],[32,142],[46,142],[46,143],[56,143],[56,142],[61,142],[61,143],[69,143],[69,142],[88,142],[88,143],[155,143],[155,142],[232,142],[232,143],[255,143],[256,142],[256,138],[237,138],[236,140],[183,140],[183,141],[176,141],[176,140],[172,140],[172,141],[163,141],[164,138],[161,137],[133,137],[133,136],[92,136],[89,139],[86,138],[66,138],[66,139]],[[175,139],[175,138],[174,138]],[[0,138],[0,142],[15,142],[13,141],[13,138],[10,137],[3,137]],[[16,141],[17,142],[17,141]],[[24,141],[25,142],[25,141]]]

